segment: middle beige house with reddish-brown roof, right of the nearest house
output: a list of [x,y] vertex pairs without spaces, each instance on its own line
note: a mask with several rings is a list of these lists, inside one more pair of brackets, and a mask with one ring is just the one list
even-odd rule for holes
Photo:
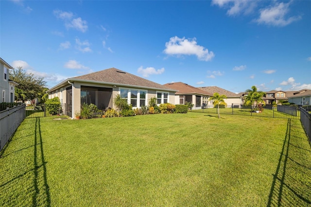
[[212,94],[204,90],[189,86],[182,82],[168,83],[163,86],[178,90],[175,93],[175,104],[186,104],[186,102],[191,102],[194,104],[192,109],[200,109],[203,104],[207,104],[208,98],[212,96]]

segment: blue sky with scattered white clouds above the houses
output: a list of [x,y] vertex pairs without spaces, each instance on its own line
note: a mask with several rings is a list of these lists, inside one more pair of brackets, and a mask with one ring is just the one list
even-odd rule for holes
[[311,1],[0,1],[0,56],[47,86],[117,68],[159,84],[311,89]]

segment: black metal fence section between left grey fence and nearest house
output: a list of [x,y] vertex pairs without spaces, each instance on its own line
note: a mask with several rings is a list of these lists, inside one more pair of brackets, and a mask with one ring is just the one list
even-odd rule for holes
[[[52,108],[52,109],[51,109]],[[26,104],[26,118],[66,115],[66,104]]]

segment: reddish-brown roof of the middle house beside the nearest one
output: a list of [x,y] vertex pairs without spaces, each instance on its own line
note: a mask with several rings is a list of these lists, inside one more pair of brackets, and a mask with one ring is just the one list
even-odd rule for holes
[[178,90],[175,94],[201,94],[201,95],[207,95],[212,96],[213,94],[208,93],[207,91],[201,90],[197,87],[190,86],[188,84],[182,83],[182,82],[176,82],[176,83],[168,83],[164,84],[163,86],[167,86],[170,88],[173,88],[175,90]]

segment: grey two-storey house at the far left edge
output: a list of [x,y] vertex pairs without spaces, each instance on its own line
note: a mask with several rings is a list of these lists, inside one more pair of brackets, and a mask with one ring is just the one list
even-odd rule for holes
[[10,80],[9,69],[13,69],[7,62],[0,58],[0,102],[15,101],[15,86],[18,84]]

